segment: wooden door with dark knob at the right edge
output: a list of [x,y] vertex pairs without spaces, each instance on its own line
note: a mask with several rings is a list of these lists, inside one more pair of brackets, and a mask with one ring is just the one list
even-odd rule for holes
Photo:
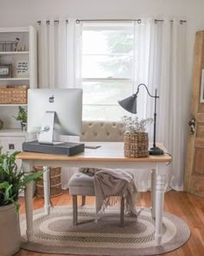
[[204,197],[204,31],[195,35],[185,191]]

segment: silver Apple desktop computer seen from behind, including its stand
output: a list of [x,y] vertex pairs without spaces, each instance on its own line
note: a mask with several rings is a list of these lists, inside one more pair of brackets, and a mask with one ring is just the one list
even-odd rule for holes
[[79,136],[82,129],[82,89],[29,89],[28,132],[39,132],[40,144],[55,144],[54,130]]

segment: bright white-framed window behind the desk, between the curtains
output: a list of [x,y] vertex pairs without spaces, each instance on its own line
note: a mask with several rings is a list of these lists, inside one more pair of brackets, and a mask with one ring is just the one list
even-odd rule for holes
[[82,87],[85,120],[119,120],[118,99],[133,93],[134,28],[126,23],[84,23]]

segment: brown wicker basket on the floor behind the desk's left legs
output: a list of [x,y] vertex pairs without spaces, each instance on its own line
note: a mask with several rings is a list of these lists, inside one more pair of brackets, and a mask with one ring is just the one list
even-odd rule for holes
[[[41,166],[35,166],[35,170],[42,170]],[[50,167],[50,196],[54,197],[63,193],[61,189],[61,167]],[[44,197],[43,177],[36,182],[36,195]]]

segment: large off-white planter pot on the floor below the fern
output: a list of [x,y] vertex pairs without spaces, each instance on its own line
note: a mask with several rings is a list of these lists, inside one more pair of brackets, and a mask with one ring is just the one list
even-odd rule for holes
[[21,246],[19,216],[13,204],[0,207],[0,255],[17,253]]

